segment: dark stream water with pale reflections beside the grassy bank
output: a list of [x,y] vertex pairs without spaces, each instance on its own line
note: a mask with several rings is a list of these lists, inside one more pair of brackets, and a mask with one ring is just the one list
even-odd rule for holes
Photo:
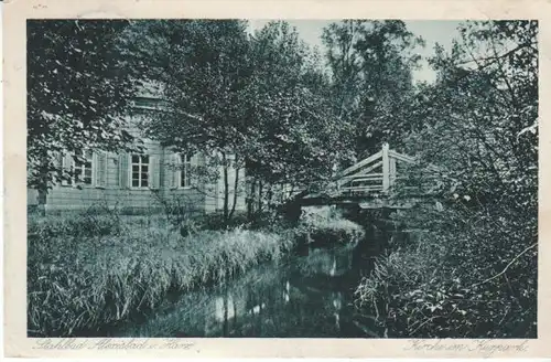
[[225,285],[183,295],[116,337],[366,337],[355,321],[352,247],[261,265]]

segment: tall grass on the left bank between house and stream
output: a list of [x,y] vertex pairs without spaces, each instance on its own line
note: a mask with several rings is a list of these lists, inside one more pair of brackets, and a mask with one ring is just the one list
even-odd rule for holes
[[155,225],[110,215],[31,219],[29,333],[91,334],[155,308],[171,291],[223,280],[293,247],[292,238],[261,231],[183,237]]

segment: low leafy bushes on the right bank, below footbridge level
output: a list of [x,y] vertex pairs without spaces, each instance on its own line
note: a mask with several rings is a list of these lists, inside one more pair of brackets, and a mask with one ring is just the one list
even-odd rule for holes
[[396,216],[413,230],[356,290],[390,338],[536,338],[536,220],[434,207]]

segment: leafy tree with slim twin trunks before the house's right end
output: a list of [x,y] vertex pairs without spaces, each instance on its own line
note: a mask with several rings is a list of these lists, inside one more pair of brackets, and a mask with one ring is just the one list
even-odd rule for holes
[[166,111],[144,129],[176,151],[208,155],[210,168],[222,166],[226,221],[242,181],[236,172],[230,185],[229,169],[242,168],[248,142],[241,106],[250,74],[246,28],[237,20],[148,21],[137,22],[132,32],[140,58],[152,65],[148,76],[163,83],[166,99]]

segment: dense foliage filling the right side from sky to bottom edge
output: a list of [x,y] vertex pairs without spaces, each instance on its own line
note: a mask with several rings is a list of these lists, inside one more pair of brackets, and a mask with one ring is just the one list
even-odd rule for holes
[[398,215],[423,232],[381,258],[358,296],[378,307],[389,336],[533,338],[538,26],[473,22],[461,34],[450,54],[437,50],[439,79],[409,108],[419,126],[407,147],[440,167],[439,198]]

